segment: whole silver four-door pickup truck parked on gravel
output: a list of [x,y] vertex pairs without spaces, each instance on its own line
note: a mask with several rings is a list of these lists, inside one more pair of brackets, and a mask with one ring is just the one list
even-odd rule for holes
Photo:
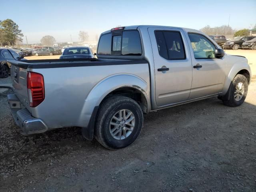
[[81,127],[108,149],[139,136],[143,113],[218,96],[240,106],[251,71],[200,31],[127,26],[103,32],[97,58],[10,61],[8,95],[22,134]]

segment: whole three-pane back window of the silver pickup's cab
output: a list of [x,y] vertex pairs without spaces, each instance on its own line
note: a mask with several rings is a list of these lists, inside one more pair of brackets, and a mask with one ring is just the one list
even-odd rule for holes
[[100,37],[98,55],[140,56],[142,46],[137,30],[108,33]]

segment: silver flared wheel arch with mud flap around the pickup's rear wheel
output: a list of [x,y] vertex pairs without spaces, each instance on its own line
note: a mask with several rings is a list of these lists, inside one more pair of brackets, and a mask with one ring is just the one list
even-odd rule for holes
[[92,90],[90,90],[84,101],[78,121],[82,127],[82,133],[85,138],[89,140],[93,138],[92,129],[95,119],[92,120],[91,118],[96,118],[95,114],[93,114],[95,113],[95,108],[98,110],[98,106],[100,106],[102,100],[104,100],[109,93],[123,87],[135,88],[142,92],[147,100],[148,108],[150,108],[150,86],[142,78],[133,74],[114,74],[108,76],[98,82]]

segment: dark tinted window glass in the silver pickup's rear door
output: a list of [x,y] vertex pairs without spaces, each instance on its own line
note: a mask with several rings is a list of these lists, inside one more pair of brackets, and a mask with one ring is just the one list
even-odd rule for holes
[[156,31],[155,36],[160,56],[168,60],[186,59],[180,32]]

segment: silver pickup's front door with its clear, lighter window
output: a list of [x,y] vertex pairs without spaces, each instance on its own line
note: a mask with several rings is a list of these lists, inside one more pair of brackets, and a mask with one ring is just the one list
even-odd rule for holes
[[215,45],[204,35],[188,32],[192,56],[192,86],[189,99],[222,91],[226,78],[225,56],[215,57]]

